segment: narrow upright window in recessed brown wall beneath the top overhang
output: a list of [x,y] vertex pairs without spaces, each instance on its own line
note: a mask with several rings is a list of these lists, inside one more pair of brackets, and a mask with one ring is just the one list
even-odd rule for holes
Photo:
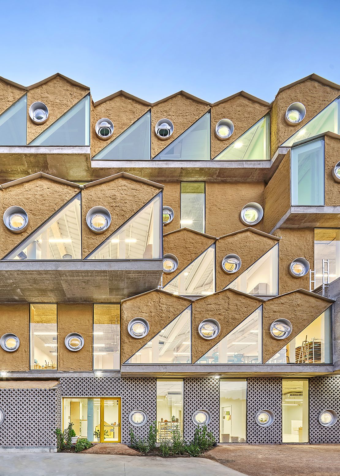
[[205,182],[181,183],[181,228],[205,232],[206,184]]

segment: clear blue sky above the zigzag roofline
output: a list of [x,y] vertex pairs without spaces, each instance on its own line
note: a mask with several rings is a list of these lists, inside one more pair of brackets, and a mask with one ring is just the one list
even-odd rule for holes
[[0,76],[27,86],[60,72],[95,101],[119,89],[271,101],[313,72],[340,83],[339,19],[339,0],[2,1]]

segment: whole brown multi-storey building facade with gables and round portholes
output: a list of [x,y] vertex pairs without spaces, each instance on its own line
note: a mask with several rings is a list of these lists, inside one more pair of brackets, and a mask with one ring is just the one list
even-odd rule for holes
[[270,104],[0,78],[0,448],[339,443],[339,160],[314,74]]

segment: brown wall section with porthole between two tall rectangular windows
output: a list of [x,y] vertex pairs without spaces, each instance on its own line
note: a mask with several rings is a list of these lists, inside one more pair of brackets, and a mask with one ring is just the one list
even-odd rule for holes
[[[93,369],[93,305],[58,304],[58,370],[85,372]],[[84,346],[76,352],[65,346],[65,337],[78,332]]]

